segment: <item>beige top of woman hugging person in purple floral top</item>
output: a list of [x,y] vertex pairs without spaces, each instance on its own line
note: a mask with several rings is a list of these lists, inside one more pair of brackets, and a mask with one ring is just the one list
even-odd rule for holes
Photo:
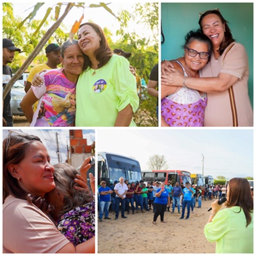
[[3,204],[3,253],[56,253],[68,239],[35,205],[8,196]]

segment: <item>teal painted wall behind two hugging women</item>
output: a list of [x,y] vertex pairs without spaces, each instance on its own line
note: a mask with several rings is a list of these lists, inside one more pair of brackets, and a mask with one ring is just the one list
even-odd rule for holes
[[161,60],[173,60],[184,54],[184,36],[191,29],[198,29],[199,14],[219,8],[228,21],[233,38],[243,44],[249,59],[249,96],[253,106],[253,3],[162,3],[161,20],[164,44]]

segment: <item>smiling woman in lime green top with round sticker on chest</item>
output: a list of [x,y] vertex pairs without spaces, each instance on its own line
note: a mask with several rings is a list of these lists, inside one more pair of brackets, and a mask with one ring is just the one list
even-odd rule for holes
[[103,30],[92,22],[81,24],[78,45],[85,56],[76,88],[76,126],[136,126],[132,116],[139,97],[129,61],[113,54]]

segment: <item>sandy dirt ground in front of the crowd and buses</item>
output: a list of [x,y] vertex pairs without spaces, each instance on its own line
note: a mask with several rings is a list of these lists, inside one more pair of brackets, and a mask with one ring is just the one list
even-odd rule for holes
[[173,214],[165,212],[167,223],[161,223],[159,216],[157,225],[152,224],[152,211],[134,215],[125,212],[127,219],[119,216],[118,220],[109,212],[111,220],[98,221],[98,253],[215,253],[215,243],[204,236],[211,202],[203,201],[202,208],[195,208],[189,220],[179,220],[177,208]]

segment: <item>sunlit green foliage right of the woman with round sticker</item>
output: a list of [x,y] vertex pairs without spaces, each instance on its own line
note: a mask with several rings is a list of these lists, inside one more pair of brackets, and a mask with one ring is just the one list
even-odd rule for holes
[[[137,24],[143,23],[150,28],[151,35],[147,38],[129,32],[127,29],[129,21],[134,20],[136,14],[139,16]],[[125,52],[131,52],[132,55],[129,61],[132,67],[135,67],[138,76],[148,83],[151,69],[158,63],[158,3],[137,3],[134,6],[133,13],[122,10],[119,17],[120,29],[116,31],[116,35],[121,35],[122,39],[109,45],[112,49],[120,48]],[[148,95],[145,88],[142,93],[140,108],[134,116],[136,125],[158,126],[156,116],[157,99]]]

